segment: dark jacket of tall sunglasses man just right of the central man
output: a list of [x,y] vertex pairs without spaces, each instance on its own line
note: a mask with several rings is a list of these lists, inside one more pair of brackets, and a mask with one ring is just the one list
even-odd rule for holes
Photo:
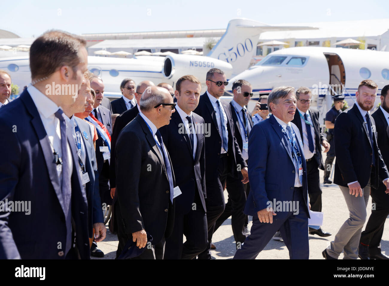
[[[235,138],[235,128],[231,128],[234,125],[230,104],[226,101],[221,101],[224,111],[227,115],[227,130],[228,130],[228,173],[233,177],[240,178],[242,175],[238,172],[237,165],[240,164],[241,168],[247,167],[245,160],[242,158],[237,139]],[[205,92],[200,95],[200,102],[195,109],[196,114],[202,116],[204,123],[207,124],[208,134],[205,135],[205,158],[207,158],[207,166],[205,168],[205,178],[211,180],[217,176],[217,168],[219,167],[220,150],[221,150],[221,137],[219,128],[217,126],[216,114],[211,101]],[[213,180],[212,179],[212,180]]]

